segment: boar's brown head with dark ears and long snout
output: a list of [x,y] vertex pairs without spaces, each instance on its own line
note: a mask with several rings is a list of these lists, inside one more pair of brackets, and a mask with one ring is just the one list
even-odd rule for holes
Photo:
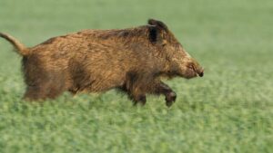
[[187,79],[204,75],[204,69],[186,52],[166,24],[154,19],[149,19],[148,24],[149,41],[157,47],[158,52],[164,54],[168,75]]

